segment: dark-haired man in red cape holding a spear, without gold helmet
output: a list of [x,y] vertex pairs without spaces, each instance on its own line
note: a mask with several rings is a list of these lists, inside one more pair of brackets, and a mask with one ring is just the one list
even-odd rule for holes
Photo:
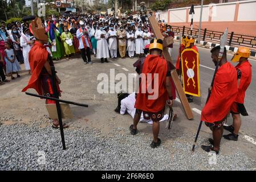
[[220,63],[220,68],[216,73],[213,87],[210,88],[212,91],[210,98],[201,113],[201,121],[204,121],[205,125],[213,131],[213,139],[209,139],[213,146],[202,145],[202,149],[207,152],[215,151],[216,154],[220,151],[223,125],[238,93],[237,71],[227,62],[226,48],[220,62],[218,61],[219,52],[220,46],[211,50],[213,62],[215,65]]

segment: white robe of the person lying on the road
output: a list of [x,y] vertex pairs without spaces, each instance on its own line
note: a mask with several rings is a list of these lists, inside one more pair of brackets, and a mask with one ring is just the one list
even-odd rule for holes
[[[131,115],[132,118],[134,118],[136,111],[136,108],[134,107],[135,101],[135,92],[129,94],[128,97],[121,100],[120,114],[125,114],[125,111],[127,111],[127,113]],[[165,121],[166,119],[168,119],[168,117],[168,114],[165,114],[164,117],[160,120],[160,122]],[[143,113],[141,113],[140,115],[140,122],[149,123],[151,125],[153,124],[152,119],[144,119]]]

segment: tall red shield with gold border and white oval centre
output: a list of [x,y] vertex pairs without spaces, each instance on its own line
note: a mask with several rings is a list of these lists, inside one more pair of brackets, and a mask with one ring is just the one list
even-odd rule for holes
[[183,89],[186,94],[200,97],[199,53],[191,48],[181,53]]

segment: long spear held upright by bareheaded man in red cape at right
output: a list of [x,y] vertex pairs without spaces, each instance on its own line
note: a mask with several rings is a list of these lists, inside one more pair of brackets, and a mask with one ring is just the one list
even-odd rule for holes
[[[220,49],[220,52],[219,52],[219,55],[218,55],[218,61],[219,62],[216,65],[216,68],[215,68],[215,71],[214,71],[214,75],[213,75],[213,79],[212,79],[212,83],[210,85],[210,88],[213,87],[214,79],[215,79],[216,73],[218,71],[218,67],[220,66],[221,58],[222,58],[223,53],[224,53],[224,49],[225,49],[225,45],[226,45],[226,42],[227,42],[228,34],[229,34],[229,32],[228,32],[228,29],[226,28],[224,34],[221,36],[221,40],[220,40],[220,47],[221,47],[221,49]],[[207,96],[207,99],[206,99],[206,103],[208,102],[208,100],[210,98],[210,94],[211,94],[211,90],[209,89],[208,96]],[[200,121],[200,124],[198,126],[197,135],[196,135],[196,138],[194,139],[194,144],[193,144],[193,147],[192,147],[192,151],[194,151],[194,147],[196,146],[197,138],[198,138],[199,132],[201,130],[201,126],[202,126],[202,121]]]

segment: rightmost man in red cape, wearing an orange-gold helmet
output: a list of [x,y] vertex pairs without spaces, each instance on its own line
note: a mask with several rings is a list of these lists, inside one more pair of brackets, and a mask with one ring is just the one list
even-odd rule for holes
[[248,115],[245,106],[243,103],[245,102],[245,92],[248,86],[251,83],[251,64],[249,63],[248,58],[250,57],[250,49],[247,47],[238,47],[237,52],[235,53],[232,61],[238,62],[237,66],[237,78],[238,78],[238,94],[234,103],[231,106],[231,114],[233,117],[233,125],[224,126],[224,129],[230,131],[231,133],[228,135],[224,135],[223,137],[228,140],[238,140],[238,132],[241,127],[241,115]]

